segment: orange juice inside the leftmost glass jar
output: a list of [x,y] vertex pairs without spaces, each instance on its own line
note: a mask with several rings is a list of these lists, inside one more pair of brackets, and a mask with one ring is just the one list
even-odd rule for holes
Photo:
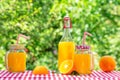
[[8,71],[24,72],[26,69],[26,54],[23,52],[11,52],[8,54]]

